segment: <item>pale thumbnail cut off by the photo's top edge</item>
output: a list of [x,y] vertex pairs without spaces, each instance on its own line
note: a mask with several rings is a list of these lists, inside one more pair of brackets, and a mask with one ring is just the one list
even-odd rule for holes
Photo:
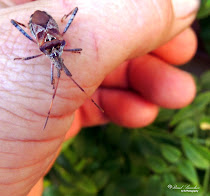
[[200,0],[172,0],[176,18],[185,18],[196,12],[200,7]]

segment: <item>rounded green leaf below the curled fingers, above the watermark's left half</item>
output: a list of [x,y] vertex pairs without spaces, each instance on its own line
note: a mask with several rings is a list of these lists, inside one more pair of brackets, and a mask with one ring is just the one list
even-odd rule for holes
[[178,148],[168,144],[161,145],[161,153],[163,157],[171,163],[177,162],[181,157],[181,151]]

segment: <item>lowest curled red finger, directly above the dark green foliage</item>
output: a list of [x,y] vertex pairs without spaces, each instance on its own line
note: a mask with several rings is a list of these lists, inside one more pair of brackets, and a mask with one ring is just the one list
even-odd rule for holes
[[158,114],[156,105],[128,90],[103,89],[101,94],[107,117],[118,125],[143,127],[152,123]]

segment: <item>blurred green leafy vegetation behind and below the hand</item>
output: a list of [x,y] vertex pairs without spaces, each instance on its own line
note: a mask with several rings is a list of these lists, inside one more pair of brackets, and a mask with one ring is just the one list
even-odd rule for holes
[[[210,0],[202,1],[196,23],[198,55],[209,62]],[[194,102],[181,110],[161,109],[148,127],[86,128],[65,143],[43,195],[210,196],[210,72],[195,79]]]

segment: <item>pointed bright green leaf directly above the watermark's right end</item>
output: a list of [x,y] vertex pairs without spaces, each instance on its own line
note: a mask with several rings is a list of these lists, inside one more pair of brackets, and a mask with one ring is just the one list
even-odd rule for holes
[[198,176],[195,167],[193,166],[192,162],[189,160],[181,160],[177,164],[177,168],[179,173],[184,176],[189,182],[194,185],[198,185]]

